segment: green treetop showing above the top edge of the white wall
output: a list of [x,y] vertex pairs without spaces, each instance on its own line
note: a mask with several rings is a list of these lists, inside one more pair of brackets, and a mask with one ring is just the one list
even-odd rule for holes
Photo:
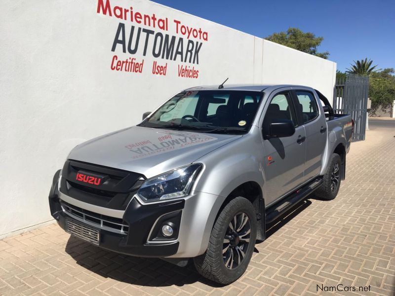
[[298,28],[289,28],[286,32],[274,33],[265,39],[315,55],[323,59],[327,59],[329,56],[328,51],[317,51],[317,47],[324,39],[323,37],[316,37],[316,35],[313,33],[305,33]]

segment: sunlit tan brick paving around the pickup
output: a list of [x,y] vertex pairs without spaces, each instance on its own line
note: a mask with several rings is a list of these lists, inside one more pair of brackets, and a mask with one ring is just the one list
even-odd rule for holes
[[103,251],[51,224],[0,241],[0,295],[327,295],[317,285],[395,295],[395,129],[353,143],[333,201],[309,200],[218,287],[193,267]]

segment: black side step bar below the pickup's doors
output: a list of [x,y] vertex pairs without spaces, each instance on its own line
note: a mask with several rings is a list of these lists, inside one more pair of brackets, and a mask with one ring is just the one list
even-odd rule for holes
[[278,217],[284,214],[286,211],[290,210],[293,206],[298,204],[300,201],[305,199],[308,195],[310,195],[314,190],[316,190],[321,184],[322,179],[317,178],[307,185],[301,187],[300,189],[292,192],[284,199],[280,200],[275,205],[266,209],[265,213],[265,222],[269,224],[275,221]]

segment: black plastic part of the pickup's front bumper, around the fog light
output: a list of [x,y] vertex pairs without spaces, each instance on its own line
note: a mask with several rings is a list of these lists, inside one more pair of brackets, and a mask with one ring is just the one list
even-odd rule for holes
[[[175,224],[180,223],[184,200],[142,205],[135,198],[132,199],[123,216],[123,221],[129,225],[128,233],[121,234],[102,229],[99,225],[98,227],[94,227],[92,224],[88,225],[65,213],[60,205],[61,200],[56,186],[56,174],[54,182],[49,194],[49,207],[52,217],[57,220],[60,227],[64,230],[66,230],[66,220],[95,228],[100,232],[100,248],[126,255],[163,258],[177,253],[179,243],[166,243],[166,238],[156,234],[158,227],[155,227],[154,231],[152,231],[150,238],[148,236],[154,224],[161,222],[163,217],[169,217],[169,221],[171,220]],[[179,215],[174,215],[174,213],[179,213]],[[178,229],[175,235],[178,236]],[[174,241],[177,236],[167,240]]]

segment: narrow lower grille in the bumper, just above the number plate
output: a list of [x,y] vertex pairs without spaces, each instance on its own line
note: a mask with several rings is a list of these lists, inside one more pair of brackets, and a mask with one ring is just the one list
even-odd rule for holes
[[129,231],[129,226],[122,219],[87,211],[64,201],[61,202],[61,206],[63,212],[80,222],[125,235]]

